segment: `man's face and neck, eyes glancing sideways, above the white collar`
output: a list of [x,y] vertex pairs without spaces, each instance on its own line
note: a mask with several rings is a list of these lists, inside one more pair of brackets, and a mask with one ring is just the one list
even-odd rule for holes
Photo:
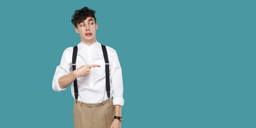
[[[98,23],[95,23],[94,18],[87,17],[83,22],[79,23],[75,27],[76,33],[79,33],[82,42],[93,43],[96,41],[96,30],[98,29]],[[86,33],[91,33],[87,35]]]

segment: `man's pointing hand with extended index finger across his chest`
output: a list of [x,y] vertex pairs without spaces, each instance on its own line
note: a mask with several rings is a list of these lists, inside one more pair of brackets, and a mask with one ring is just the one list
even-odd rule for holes
[[93,65],[82,65],[78,69],[75,69],[74,72],[76,72],[76,76],[88,76],[90,73],[91,68],[93,67],[101,67],[101,65],[93,64]]

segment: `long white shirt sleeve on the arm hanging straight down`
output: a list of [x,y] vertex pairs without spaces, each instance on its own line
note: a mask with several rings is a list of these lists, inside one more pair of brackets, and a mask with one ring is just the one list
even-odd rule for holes
[[123,77],[121,65],[119,63],[116,50],[114,50],[114,56],[112,58],[112,66],[110,69],[110,82],[113,85],[113,105],[123,106]]

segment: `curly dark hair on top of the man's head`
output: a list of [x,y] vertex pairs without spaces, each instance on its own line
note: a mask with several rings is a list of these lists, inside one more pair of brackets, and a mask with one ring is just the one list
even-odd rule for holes
[[94,16],[94,14],[96,13],[96,11],[91,10],[88,7],[83,7],[80,10],[76,10],[75,13],[72,15],[72,24],[75,25],[77,27],[77,24],[81,23],[83,20],[85,20],[87,17],[93,17],[96,23],[96,18]]

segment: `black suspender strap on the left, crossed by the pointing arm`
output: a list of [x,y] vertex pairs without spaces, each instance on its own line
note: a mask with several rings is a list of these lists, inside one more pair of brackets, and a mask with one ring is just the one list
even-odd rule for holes
[[[74,46],[73,48],[73,54],[72,54],[72,69],[73,71],[76,69],[76,56],[77,56],[77,46]],[[75,99],[77,103],[78,99],[78,88],[77,88],[77,80],[74,80],[74,91],[75,91]]]

